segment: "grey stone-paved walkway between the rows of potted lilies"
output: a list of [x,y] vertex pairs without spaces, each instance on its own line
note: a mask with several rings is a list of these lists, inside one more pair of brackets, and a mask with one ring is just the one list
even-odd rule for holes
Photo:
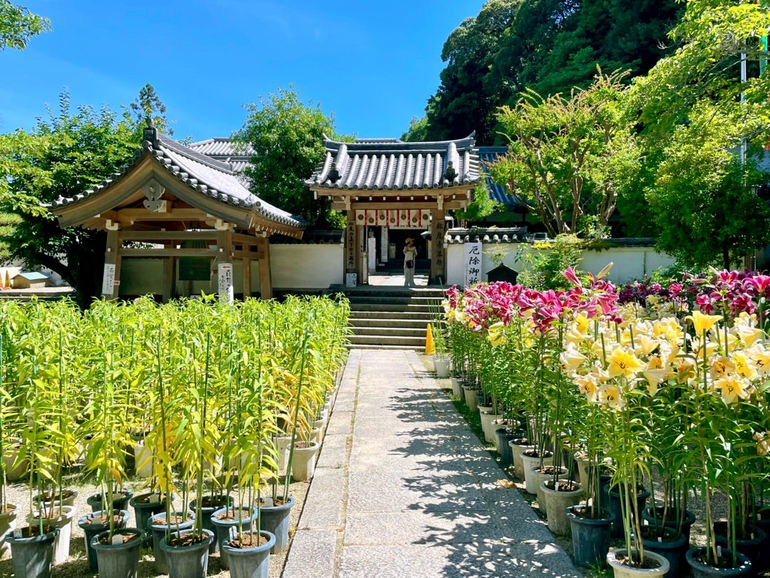
[[283,578],[581,576],[414,351],[358,350]]

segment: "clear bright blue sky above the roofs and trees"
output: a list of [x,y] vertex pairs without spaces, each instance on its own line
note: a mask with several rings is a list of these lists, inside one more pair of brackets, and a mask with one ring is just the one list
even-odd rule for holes
[[[447,36],[484,0],[15,0],[52,21],[0,52],[0,133],[45,105],[132,102],[147,82],[176,138],[229,136],[243,104],[293,84],[341,133],[400,136],[423,116]],[[454,135],[457,138],[466,135]]]

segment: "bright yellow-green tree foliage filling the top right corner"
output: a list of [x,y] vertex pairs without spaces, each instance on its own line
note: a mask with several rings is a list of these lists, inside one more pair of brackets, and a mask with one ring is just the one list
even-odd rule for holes
[[[770,76],[758,74],[767,59],[762,36],[768,12],[757,2],[690,0],[681,22],[671,30],[678,49],[646,76],[634,79],[631,97],[641,111],[648,139],[666,141],[691,109],[705,100],[718,102],[739,133],[764,145],[770,136]],[[748,76],[741,79],[745,55]]]

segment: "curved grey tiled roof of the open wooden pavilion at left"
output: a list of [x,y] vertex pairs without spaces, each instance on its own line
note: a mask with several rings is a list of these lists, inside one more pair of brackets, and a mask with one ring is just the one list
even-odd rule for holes
[[[147,130],[146,136],[148,135]],[[119,180],[123,174],[136,164],[142,155],[149,153],[159,166],[162,166],[162,168],[175,176],[176,179],[206,197],[211,197],[220,203],[228,203],[236,207],[253,210],[261,217],[276,223],[290,227],[306,227],[307,223],[300,217],[295,217],[285,210],[273,207],[273,205],[260,200],[259,197],[251,193],[241,182],[239,173],[233,170],[233,166],[230,163],[216,160],[211,156],[206,156],[196,150],[192,150],[176,140],[169,139],[168,136],[158,134],[154,128],[152,133],[154,133],[154,137],[146,139],[142,143],[142,151],[137,153],[121,170],[85,193],[70,198],[59,197],[59,199],[52,203],[52,206],[62,207],[78,203],[80,200],[102,192],[102,190],[109,188],[112,183],[115,183],[116,180]]]

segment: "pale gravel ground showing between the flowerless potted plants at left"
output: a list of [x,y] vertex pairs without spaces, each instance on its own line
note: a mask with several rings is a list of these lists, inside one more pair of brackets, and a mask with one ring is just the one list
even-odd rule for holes
[[[85,555],[85,539],[83,538],[83,531],[78,526],[78,519],[91,512],[91,506],[89,506],[85,500],[88,499],[89,496],[99,492],[99,488],[89,483],[83,483],[80,477],[81,476],[77,473],[72,474],[71,476],[68,476],[66,482],[66,487],[76,489],[79,492],[79,495],[75,499],[75,519],[72,521],[72,540],[69,546],[69,559],[65,563],[54,566],[51,575],[52,578],[91,578],[92,576],[99,576],[98,573],[94,573],[89,569],[88,560]],[[130,479],[126,482],[124,489],[131,490],[136,495],[146,491],[142,489],[143,483],[144,480],[141,479]],[[291,509],[290,541],[294,530],[296,529],[296,524],[300,519],[300,512],[302,512],[309,486],[309,482],[294,482],[290,486],[290,494],[296,500],[295,506]],[[16,526],[19,527],[25,525],[25,523],[22,522],[22,519],[25,519],[29,512],[29,492],[24,483],[19,482],[9,484],[8,502],[21,506]],[[182,502],[176,500],[175,506],[181,507]],[[133,509],[128,509],[131,514],[128,526],[134,526],[136,519],[134,517]],[[273,554],[270,556],[269,578],[279,578],[283,572],[283,564],[286,561],[286,552],[288,552],[288,549],[281,554]],[[209,572],[207,576],[226,578],[226,576],[229,575],[229,570],[222,570],[219,566],[219,552],[210,555]],[[0,576],[12,576],[10,554],[0,560]],[[152,555],[152,549],[142,549],[142,555],[139,560],[139,578],[149,578],[150,576],[166,576],[166,574],[159,574],[156,572],[155,558]]]

